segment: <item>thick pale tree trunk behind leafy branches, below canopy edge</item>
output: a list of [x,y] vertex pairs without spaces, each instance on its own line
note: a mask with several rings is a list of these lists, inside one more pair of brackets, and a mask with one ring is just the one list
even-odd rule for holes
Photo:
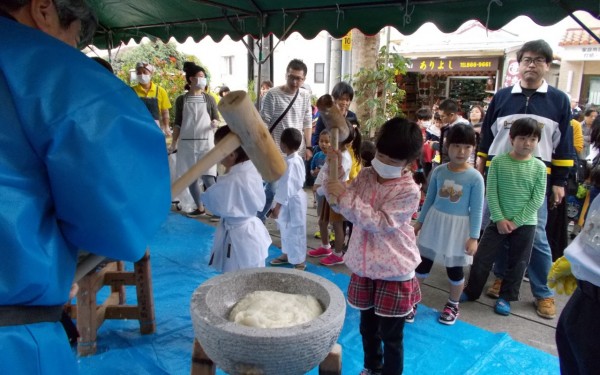
[[[379,33],[367,36],[358,29],[352,30],[352,73],[356,74],[361,68],[375,69],[379,54]],[[373,117],[371,110],[365,104],[369,98],[375,97],[375,92],[354,98],[352,110],[356,112],[360,124]]]

